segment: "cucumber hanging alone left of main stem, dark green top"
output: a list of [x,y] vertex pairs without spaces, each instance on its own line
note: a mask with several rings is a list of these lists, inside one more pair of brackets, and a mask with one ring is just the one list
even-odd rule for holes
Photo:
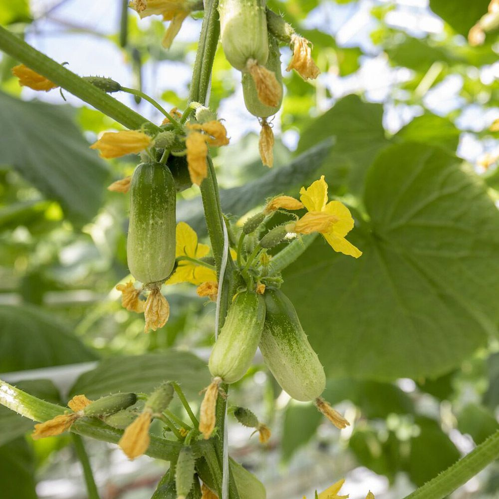
[[130,186],[127,258],[144,284],[166,279],[175,264],[175,182],[161,163],[142,163]]

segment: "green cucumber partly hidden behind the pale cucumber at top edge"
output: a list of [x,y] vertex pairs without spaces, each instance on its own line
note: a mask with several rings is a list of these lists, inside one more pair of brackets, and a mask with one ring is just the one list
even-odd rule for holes
[[282,103],[282,72],[280,66],[279,44],[272,35],[268,35],[268,59],[265,67],[275,74],[275,77],[281,87],[281,98],[279,104],[275,107],[266,106],[260,99],[254,80],[249,73],[243,73],[243,96],[245,98],[246,109],[257,118],[268,118],[273,116],[279,109]]

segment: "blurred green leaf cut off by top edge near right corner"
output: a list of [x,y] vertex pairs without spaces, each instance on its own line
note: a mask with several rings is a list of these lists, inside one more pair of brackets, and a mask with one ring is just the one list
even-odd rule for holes
[[470,28],[487,13],[490,0],[430,0],[430,8],[458,33],[468,36]]

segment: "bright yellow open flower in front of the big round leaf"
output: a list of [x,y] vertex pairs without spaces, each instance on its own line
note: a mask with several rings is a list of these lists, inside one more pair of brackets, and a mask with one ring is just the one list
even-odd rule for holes
[[309,213],[295,224],[289,224],[290,232],[310,234],[320,232],[331,248],[358,258],[362,251],[349,243],[345,236],[353,229],[350,210],[339,201],[327,202],[327,184],[324,175],[310,187],[300,189],[300,200]]

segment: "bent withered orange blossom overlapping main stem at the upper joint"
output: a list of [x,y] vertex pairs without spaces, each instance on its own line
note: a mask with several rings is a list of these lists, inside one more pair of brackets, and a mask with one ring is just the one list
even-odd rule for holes
[[[188,123],[186,138],[187,168],[193,184],[201,185],[208,177],[208,145],[225,146],[229,144],[227,130],[218,120],[207,123]],[[204,132],[204,133],[203,133]]]

